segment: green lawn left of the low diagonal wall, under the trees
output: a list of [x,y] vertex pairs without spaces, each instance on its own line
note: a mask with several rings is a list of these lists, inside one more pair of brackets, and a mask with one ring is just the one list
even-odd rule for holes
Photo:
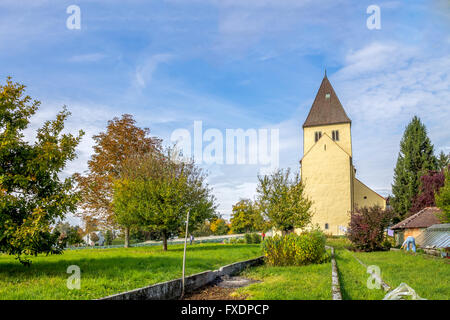
[[[188,247],[186,273],[261,255],[260,245],[196,244]],[[183,245],[128,249],[67,250],[62,255],[38,256],[31,267],[0,254],[0,299],[95,299],[181,277]],[[67,267],[81,269],[81,289],[66,287]]]

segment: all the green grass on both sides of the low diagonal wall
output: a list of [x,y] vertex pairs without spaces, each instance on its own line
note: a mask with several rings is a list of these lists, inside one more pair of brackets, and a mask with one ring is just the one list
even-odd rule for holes
[[[344,300],[379,300],[386,292],[369,289],[365,265],[380,267],[381,277],[392,289],[404,282],[419,296],[448,300],[448,260],[402,251],[353,252],[345,238],[329,238],[335,248]],[[220,266],[261,255],[259,244],[204,243],[188,247],[186,274],[215,270]],[[183,245],[114,249],[67,250],[62,255],[39,255],[30,267],[14,257],[0,254],[0,299],[97,299],[111,294],[181,277]],[[80,290],[69,290],[67,268],[81,270]],[[245,270],[245,277],[259,280],[237,289],[234,296],[261,300],[331,299],[331,263],[297,267],[262,265]]]

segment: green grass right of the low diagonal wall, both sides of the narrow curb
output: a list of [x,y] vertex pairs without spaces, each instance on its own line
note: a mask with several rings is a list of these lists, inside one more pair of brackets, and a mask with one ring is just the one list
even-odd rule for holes
[[[391,289],[404,282],[419,296],[429,300],[450,298],[450,264],[447,260],[425,254],[403,251],[352,252],[347,250],[346,238],[328,238],[327,245],[335,248],[339,281],[343,300],[381,300],[386,292],[369,289],[365,265],[380,267],[381,277]],[[261,282],[240,288],[236,295],[246,299],[267,300],[329,300],[331,299],[331,264],[299,267],[271,267],[263,265],[244,273]]]

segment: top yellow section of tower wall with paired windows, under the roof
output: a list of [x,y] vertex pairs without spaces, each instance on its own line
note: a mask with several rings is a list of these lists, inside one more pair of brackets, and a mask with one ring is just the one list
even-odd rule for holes
[[350,123],[342,123],[342,124],[332,124],[326,126],[316,126],[316,127],[306,127],[303,129],[303,154],[305,155],[315,142],[315,132],[322,132],[322,136],[324,134],[332,137],[332,131],[339,130],[339,141],[336,143],[344,149],[348,155],[352,156],[352,136],[351,136],[351,126]]

